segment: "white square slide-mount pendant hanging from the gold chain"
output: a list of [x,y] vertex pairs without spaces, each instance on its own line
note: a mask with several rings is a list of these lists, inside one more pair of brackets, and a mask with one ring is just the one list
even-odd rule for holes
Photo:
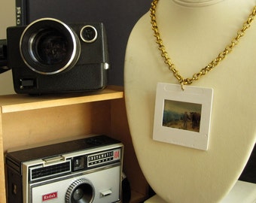
[[208,150],[213,89],[157,83],[154,141]]

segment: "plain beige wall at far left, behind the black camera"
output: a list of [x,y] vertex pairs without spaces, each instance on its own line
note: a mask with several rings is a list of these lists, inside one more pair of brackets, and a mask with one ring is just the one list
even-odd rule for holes
[[[6,38],[6,28],[15,26],[15,0],[0,0],[0,39]],[[0,74],[0,95],[13,94],[11,71]]]

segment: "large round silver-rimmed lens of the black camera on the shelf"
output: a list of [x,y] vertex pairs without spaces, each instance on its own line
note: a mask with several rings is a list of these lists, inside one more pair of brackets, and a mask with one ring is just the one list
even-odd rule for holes
[[80,51],[76,33],[53,18],[35,20],[20,38],[23,62],[39,74],[57,74],[73,68]]

